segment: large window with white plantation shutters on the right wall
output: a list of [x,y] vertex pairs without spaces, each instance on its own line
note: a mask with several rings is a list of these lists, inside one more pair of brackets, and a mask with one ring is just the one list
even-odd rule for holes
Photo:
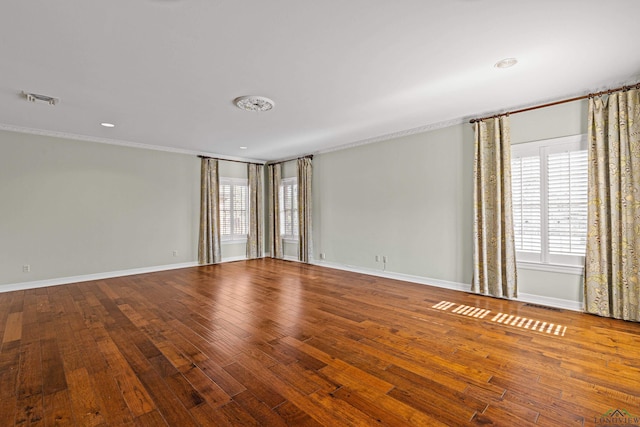
[[586,137],[511,147],[516,258],[582,266],[587,237]]

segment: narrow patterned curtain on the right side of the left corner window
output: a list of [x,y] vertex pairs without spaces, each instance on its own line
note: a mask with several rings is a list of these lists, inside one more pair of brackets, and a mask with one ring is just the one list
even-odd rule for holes
[[262,202],[262,177],[264,166],[248,164],[249,176],[249,233],[247,234],[247,258],[262,258],[264,248]]

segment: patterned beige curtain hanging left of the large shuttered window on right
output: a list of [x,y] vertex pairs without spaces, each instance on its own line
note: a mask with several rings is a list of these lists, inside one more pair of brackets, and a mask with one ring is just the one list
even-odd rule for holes
[[511,209],[509,117],[475,123],[473,283],[471,290],[517,297]]

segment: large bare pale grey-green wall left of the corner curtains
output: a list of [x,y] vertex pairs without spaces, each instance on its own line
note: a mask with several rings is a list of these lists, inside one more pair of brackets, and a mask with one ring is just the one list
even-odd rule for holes
[[195,156],[0,131],[0,285],[196,261],[199,174]]

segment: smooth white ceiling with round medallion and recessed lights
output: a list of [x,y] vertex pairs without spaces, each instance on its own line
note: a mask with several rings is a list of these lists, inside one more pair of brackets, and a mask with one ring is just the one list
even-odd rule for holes
[[[283,159],[635,83],[639,14],[639,0],[2,0],[0,129]],[[241,95],[276,105],[241,111]]]

